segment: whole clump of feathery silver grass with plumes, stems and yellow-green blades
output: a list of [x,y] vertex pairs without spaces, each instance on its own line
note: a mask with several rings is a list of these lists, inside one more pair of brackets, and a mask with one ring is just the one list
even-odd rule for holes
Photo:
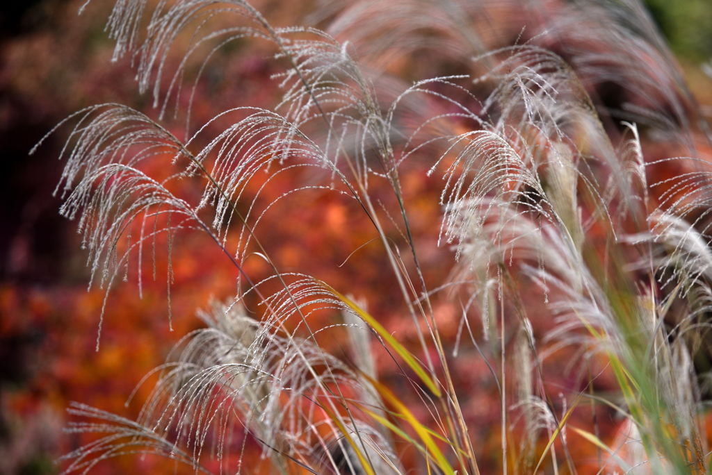
[[[166,275],[169,295],[171,260],[157,269],[155,255],[204,233],[234,267],[236,294],[201,312],[206,327],[147,376],[158,382],[137,420],[70,407],[87,422],[68,429],[99,436],[68,454],[66,471],[145,452],[194,471],[253,473],[244,463],[251,438],[274,473],[488,473],[478,461],[491,456],[473,444],[480,428],[461,404],[470,395],[451,371],[471,346],[501,401],[496,471],[587,473],[570,451],[577,439],[595,448],[600,473],[707,473],[706,388],[695,365],[707,356],[712,302],[705,122],[637,0],[552,5],[337,1],[305,19],[317,29],[273,26],[243,0],[117,1],[115,58],[132,55],[158,118],[102,104],[60,124],[69,132],[57,193],[61,213],[78,222],[90,287],[110,299],[117,281],[135,277],[141,293],[152,270]],[[518,15],[509,29],[488,22],[500,10]],[[190,46],[173,65],[181,38]],[[284,68],[274,78],[281,102],[237,105],[192,127],[190,105],[177,106],[182,89],[234,41],[271,44]],[[394,64],[446,74],[404,84]],[[629,102],[595,97],[610,84]],[[172,104],[184,139],[164,122]],[[645,141],[684,156],[651,160]],[[426,282],[404,166],[442,178],[433,228],[451,267],[446,282]],[[282,174],[304,183],[268,204],[252,192]],[[186,181],[199,196],[185,193]],[[371,193],[383,185],[390,210]],[[263,246],[270,208],[314,191],[367,216],[397,283],[382,291],[402,301],[416,344],[349,289],[282,272]],[[255,256],[271,269],[259,282],[244,270]],[[261,315],[244,310],[246,299]],[[461,314],[455,342],[434,315],[442,302]],[[315,327],[318,314],[333,324]],[[546,334],[535,331],[542,321]],[[355,358],[325,351],[322,331]],[[379,380],[375,347],[397,363],[397,388]],[[545,374],[558,351],[574,355],[577,385],[554,393]],[[595,389],[601,375],[612,375],[614,393]],[[590,407],[617,413],[627,437],[583,426],[577,412]]]

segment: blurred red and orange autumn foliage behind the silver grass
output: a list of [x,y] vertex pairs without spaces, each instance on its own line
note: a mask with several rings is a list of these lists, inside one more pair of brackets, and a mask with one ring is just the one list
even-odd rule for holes
[[[109,2],[110,3],[110,2]],[[94,1],[83,16],[77,11],[83,0],[44,0],[15,2],[3,14],[0,44],[0,143],[3,147],[4,173],[0,174],[0,473],[49,474],[58,471],[54,460],[78,446],[78,434],[62,434],[66,424],[65,408],[73,400],[104,410],[135,417],[147,397],[150,384],[142,385],[132,402],[125,407],[127,395],[149,370],[164,361],[169,348],[189,331],[203,324],[196,310],[211,299],[224,299],[234,294],[235,271],[226,266],[224,257],[201,235],[181,235],[174,249],[171,288],[172,330],[167,319],[167,292],[164,275],[150,279],[147,275],[142,299],[136,297],[136,283],[124,282],[108,297],[100,350],[95,350],[98,315],[104,292],[86,291],[88,270],[84,255],[78,251],[78,237],[73,223],[58,213],[60,200],[52,191],[61,174],[56,161],[63,142],[52,136],[38,153],[27,152],[37,140],[63,117],[74,110],[100,102],[124,102],[155,117],[147,95],[136,92],[135,73],[130,58],[111,62],[112,41],[103,31],[111,5]],[[544,2],[556,9],[559,2]],[[666,14],[661,2],[656,15]],[[670,2],[672,4],[674,2]],[[699,3],[699,2],[698,2]],[[299,23],[313,12],[315,2],[263,1],[256,4],[270,21],[280,25]],[[677,6],[676,6],[677,7]],[[701,6],[698,7],[703,9]],[[703,9],[708,15],[710,8]],[[515,9],[493,9],[488,21],[500,31],[520,33],[518,21],[511,20]],[[546,16],[546,11],[542,12]],[[662,17],[664,18],[664,17]],[[503,27],[512,21],[510,27]],[[674,23],[674,22],[673,22]],[[672,23],[671,23],[672,24]],[[677,23],[674,23],[677,25]],[[671,26],[675,31],[679,26]],[[492,28],[496,29],[496,28]],[[674,33],[681,35],[682,33]],[[679,51],[693,42],[685,37]],[[555,46],[552,47],[555,50]],[[270,108],[278,97],[281,70],[270,60],[271,50],[260,43],[238,42],[208,63],[197,85],[192,123],[201,124],[226,105],[251,105]],[[701,54],[694,50],[682,58],[687,78],[701,104],[712,105],[711,82],[698,70]],[[402,70],[402,77],[416,80],[422,68],[434,68],[427,75],[458,73],[459,65],[440,63],[438,58],[411,64],[407,58],[396,58],[388,70]],[[170,58],[173,63],[180,60]],[[689,63],[688,63],[689,61]],[[626,100],[625,92],[598,92],[602,101]],[[180,93],[177,102],[187,104],[189,88]],[[610,126],[610,124],[607,124]],[[180,120],[171,123],[178,135],[184,132]],[[216,126],[217,127],[217,126]],[[620,130],[608,132],[619,137]],[[679,154],[674,144],[667,148],[659,143],[642,144],[649,160]],[[702,145],[704,146],[704,145]],[[411,213],[411,230],[419,251],[426,282],[443,282],[450,273],[439,265],[448,247],[437,247],[441,220],[441,180],[424,178],[422,166],[404,164],[400,181]],[[661,177],[670,170],[659,171]],[[658,178],[661,178],[658,177]],[[271,203],[299,183],[299,176],[281,176],[270,181],[261,200]],[[189,183],[184,184],[189,188]],[[261,186],[254,183],[251,186]],[[379,191],[382,188],[382,192]],[[187,190],[188,190],[187,188]],[[189,191],[189,190],[188,190]],[[256,188],[249,190],[256,192]],[[384,209],[394,208],[394,196],[387,183],[375,183],[372,196],[382,200]],[[367,302],[374,314],[382,316],[384,325],[402,342],[414,342],[417,332],[412,321],[402,314],[402,305],[393,299],[396,285],[389,272],[384,272],[382,251],[367,217],[355,203],[342,200],[325,191],[299,193],[290,200],[279,201],[263,218],[263,245],[278,262],[282,272],[305,272],[329,282],[336,289],[348,289]],[[401,232],[394,225],[390,232]],[[167,256],[157,254],[157,268],[166,267]],[[405,257],[407,259],[407,257]],[[266,262],[253,255],[246,262],[246,272],[258,282],[270,274]],[[259,313],[256,301],[248,301],[248,311]],[[250,307],[253,306],[253,308]],[[441,335],[448,341],[457,338],[460,309],[441,302],[434,317]],[[328,322],[321,322],[328,324]],[[553,322],[534,319],[535,334],[546,333]],[[339,341],[324,341],[327,350],[345,359],[353,358],[340,347]],[[570,387],[567,363],[573,350],[561,351],[560,371],[548,366],[547,380],[553,386]],[[379,375],[385,383],[397,384],[399,375],[394,361],[377,355]],[[473,444],[483,459],[481,469],[496,473],[501,467],[496,447],[499,444],[499,398],[489,378],[487,366],[474,350],[462,351],[451,361],[459,393],[466,395],[462,404],[466,417],[478,426],[472,433]],[[596,390],[613,390],[614,380],[604,375],[596,381]],[[584,388],[579,388],[584,389]],[[585,411],[576,417],[590,417]],[[622,421],[614,411],[598,412],[597,424],[607,440],[622,430]],[[254,441],[250,443],[254,444]],[[570,441],[571,457],[590,460],[586,471],[595,473],[595,447],[583,440]],[[249,453],[249,452],[248,452]],[[488,455],[489,454],[489,455]],[[258,452],[251,452],[254,472],[258,473]],[[407,454],[404,457],[407,459]],[[134,471],[170,473],[171,461],[151,457],[122,458],[100,464],[95,473],[120,474]],[[489,470],[489,471],[488,471]]]

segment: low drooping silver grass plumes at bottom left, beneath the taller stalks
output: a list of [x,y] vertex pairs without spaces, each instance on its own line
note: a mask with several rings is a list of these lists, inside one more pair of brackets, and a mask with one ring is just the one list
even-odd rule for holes
[[[243,434],[257,439],[280,471],[291,459],[310,470],[362,473],[339,425],[315,415],[325,399],[337,397],[328,386],[339,385],[342,391],[352,386],[358,396],[368,393],[368,383],[312,341],[245,316],[239,304],[214,304],[201,317],[208,326],[185,336],[174,356],[150,373],[158,373],[159,380],[136,422],[73,406],[73,414],[105,422],[80,422],[71,430],[101,432],[105,427],[110,435],[68,454],[72,463],[67,471],[134,450],[172,457],[197,471],[204,470],[206,457],[219,461],[221,471],[239,471],[231,455],[244,450]],[[325,366],[330,368],[326,372],[313,369]],[[370,454],[377,473],[399,473],[379,430],[365,420],[337,417],[350,437],[362,441],[361,450]]]

